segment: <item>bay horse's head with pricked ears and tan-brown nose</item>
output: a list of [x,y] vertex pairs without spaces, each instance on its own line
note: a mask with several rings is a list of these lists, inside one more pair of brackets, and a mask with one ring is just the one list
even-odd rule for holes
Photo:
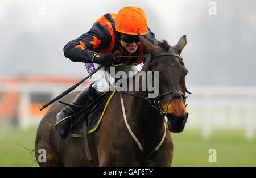
[[171,132],[182,132],[187,122],[185,107],[185,75],[188,70],[182,61],[181,53],[187,44],[186,36],[181,37],[175,46],[166,41],[155,46],[139,35],[139,40],[150,54],[143,70],[159,71],[159,105],[166,112]]

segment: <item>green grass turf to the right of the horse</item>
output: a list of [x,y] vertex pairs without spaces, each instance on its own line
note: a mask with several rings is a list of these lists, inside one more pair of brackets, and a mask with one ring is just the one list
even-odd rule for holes
[[[205,140],[200,130],[172,133],[172,166],[256,166],[256,139],[246,141],[243,131],[214,130]],[[210,163],[209,149],[216,149],[216,163]]]

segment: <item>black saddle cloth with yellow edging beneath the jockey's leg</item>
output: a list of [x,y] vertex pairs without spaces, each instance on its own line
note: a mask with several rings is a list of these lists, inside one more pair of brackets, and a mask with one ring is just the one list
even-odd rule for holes
[[70,131],[72,137],[82,137],[82,124],[84,121],[86,122],[87,135],[92,134],[100,127],[102,118],[115,92],[116,90],[113,92],[106,92],[87,108],[82,108],[75,116],[73,116]]

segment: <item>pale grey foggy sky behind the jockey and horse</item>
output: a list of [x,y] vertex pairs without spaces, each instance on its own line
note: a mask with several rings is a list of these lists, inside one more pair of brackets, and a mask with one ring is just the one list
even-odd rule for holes
[[[84,78],[82,63],[64,57],[63,47],[89,31],[107,12],[141,7],[158,40],[175,45],[187,35],[181,56],[187,84],[256,85],[256,2],[214,1],[10,1],[0,2],[0,77],[65,75]],[[46,5],[45,14],[42,8]]]

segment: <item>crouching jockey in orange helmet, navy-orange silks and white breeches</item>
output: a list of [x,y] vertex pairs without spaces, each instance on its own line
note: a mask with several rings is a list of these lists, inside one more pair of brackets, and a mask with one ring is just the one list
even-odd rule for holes
[[152,44],[158,44],[155,34],[147,27],[145,12],[139,7],[129,6],[123,7],[118,14],[105,14],[96,20],[89,32],[65,45],[65,57],[73,62],[85,63],[88,73],[92,73],[100,65],[104,67],[90,77],[92,84],[82,90],[71,105],[67,105],[57,114],[55,128],[61,138],[67,137],[72,115],[80,109],[72,105],[88,105],[98,96],[109,91],[109,81],[106,81],[105,76],[102,75],[102,71],[108,69],[106,66],[115,66],[115,72],[125,71],[127,74],[128,71],[133,71],[135,74],[141,70],[138,64],[143,62],[142,57],[117,60],[113,54],[118,50],[117,56],[145,55],[147,52],[139,42],[138,33]]

